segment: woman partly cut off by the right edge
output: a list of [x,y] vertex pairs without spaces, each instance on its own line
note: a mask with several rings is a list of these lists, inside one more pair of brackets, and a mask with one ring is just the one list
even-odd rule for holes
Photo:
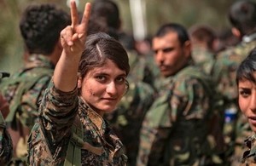
[[253,130],[253,135],[245,140],[247,151],[243,153],[241,162],[253,165],[256,164],[256,49],[241,62],[236,73],[236,83],[238,104]]

